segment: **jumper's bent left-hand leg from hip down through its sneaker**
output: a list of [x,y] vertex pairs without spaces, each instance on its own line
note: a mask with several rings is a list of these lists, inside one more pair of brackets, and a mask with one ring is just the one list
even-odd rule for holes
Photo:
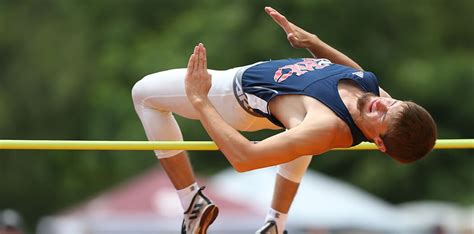
[[[243,110],[232,90],[232,78],[236,71],[210,71],[215,77],[208,96],[224,120],[235,128],[244,129],[251,126],[252,121],[246,115],[239,115],[243,114]],[[133,87],[134,106],[149,140],[183,139],[172,113],[189,119],[197,118],[186,97],[185,74],[186,69],[158,72],[146,76]],[[155,150],[155,154],[178,190],[185,211],[182,232],[204,233],[216,218],[218,209],[199,189],[187,155],[182,150]]]

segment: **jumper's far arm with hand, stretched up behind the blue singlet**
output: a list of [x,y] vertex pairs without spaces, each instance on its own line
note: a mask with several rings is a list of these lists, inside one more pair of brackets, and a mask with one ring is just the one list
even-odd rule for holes
[[357,70],[363,70],[362,67],[351,58],[332,48],[319,39],[315,34],[309,33],[291,23],[285,16],[275,9],[265,7],[265,11],[286,32],[287,39],[294,48],[305,48],[316,58],[327,58],[333,63],[353,67]]

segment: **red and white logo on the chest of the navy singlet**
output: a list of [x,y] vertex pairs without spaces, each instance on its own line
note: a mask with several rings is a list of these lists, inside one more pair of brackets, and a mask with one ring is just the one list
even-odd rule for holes
[[323,69],[331,64],[331,61],[327,59],[305,58],[301,62],[278,68],[278,70],[275,72],[275,75],[273,76],[273,79],[280,83],[288,79],[288,77],[292,76],[293,74],[296,76],[301,76],[306,72],[314,71],[315,69]]

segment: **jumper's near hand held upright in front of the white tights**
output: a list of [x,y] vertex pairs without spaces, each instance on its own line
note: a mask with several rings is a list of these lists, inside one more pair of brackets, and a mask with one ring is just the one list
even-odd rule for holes
[[191,104],[196,105],[208,100],[207,94],[211,89],[212,77],[207,72],[206,48],[202,43],[194,47],[189,57],[188,69],[185,77],[185,89]]

